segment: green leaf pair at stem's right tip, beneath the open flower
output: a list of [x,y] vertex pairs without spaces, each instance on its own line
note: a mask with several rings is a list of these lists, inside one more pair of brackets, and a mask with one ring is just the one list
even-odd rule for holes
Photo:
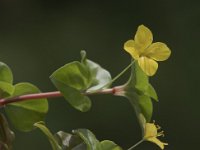
[[125,97],[127,97],[135,109],[142,129],[146,122],[150,122],[153,105],[151,97],[157,99],[153,87],[148,81],[148,76],[140,69],[137,63],[132,65],[129,81],[125,84]]

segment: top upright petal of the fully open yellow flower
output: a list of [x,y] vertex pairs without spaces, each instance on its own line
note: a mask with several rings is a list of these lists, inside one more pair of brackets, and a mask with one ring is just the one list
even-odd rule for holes
[[143,52],[153,41],[151,31],[144,25],[140,25],[135,34],[135,42],[140,46],[140,52]]

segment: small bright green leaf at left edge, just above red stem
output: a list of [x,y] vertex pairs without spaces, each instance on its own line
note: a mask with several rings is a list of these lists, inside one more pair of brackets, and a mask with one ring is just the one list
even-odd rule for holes
[[0,81],[0,98],[11,96],[14,92],[14,86],[10,83]]

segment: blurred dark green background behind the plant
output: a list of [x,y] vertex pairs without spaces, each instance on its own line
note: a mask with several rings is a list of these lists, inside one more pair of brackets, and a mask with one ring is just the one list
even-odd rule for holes
[[[140,24],[149,27],[154,41],[172,50],[169,60],[159,63],[151,78],[159,103],[154,102],[153,120],[163,127],[167,150],[198,149],[200,131],[199,35],[200,2],[195,0],[1,0],[0,61],[8,64],[14,82],[27,81],[42,91],[53,91],[51,73],[80,60],[80,50],[118,74],[130,62],[123,43],[133,38]],[[114,85],[126,82],[124,75]],[[122,97],[92,96],[93,107],[81,113],[63,99],[50,99],[46,118],[52,132],[88,128],[97,138],[110,139],[127,149],[140,140],[134,110]],[[12,127],[13,129],[13,127]],[[49,150],[39,131],[16,132],[14,150]],[[145,142],[136,150],[157,150]]]

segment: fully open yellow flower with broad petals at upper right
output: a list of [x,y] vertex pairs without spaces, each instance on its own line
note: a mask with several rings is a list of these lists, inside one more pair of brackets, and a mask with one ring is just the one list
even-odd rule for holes
[[140,25],[134,40],[128,40],[124,49],[138,61],[139,66],[148,75],[153,76],[158,69],[156,61],[164,61],[169,58],[171,51],[166,44],[153,42],[151,31],[144,25]]

